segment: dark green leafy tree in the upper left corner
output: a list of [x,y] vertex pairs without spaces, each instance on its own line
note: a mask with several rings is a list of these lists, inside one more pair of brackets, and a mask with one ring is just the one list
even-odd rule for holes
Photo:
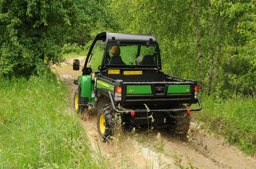
[[[59,64],[64,44],[88,36],[103,9],[104,1],[96,0],[1,0],[0,74],[43,73]],[[69,46],[76,47],[66,51]]]

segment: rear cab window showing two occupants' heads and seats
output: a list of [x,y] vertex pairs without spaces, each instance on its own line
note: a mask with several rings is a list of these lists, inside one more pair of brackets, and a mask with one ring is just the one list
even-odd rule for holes
[[159,65],[157,46],[108,45],[105,65]]

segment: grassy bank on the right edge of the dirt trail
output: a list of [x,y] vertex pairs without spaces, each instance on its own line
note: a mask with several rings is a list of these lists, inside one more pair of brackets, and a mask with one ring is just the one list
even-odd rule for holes
[[223,99],[217,93],[215,97],[202,97],[203,109],[195,114],[205,127],[225,137],[240,147],[245,153],[256,156],[256,99],[237,95]]

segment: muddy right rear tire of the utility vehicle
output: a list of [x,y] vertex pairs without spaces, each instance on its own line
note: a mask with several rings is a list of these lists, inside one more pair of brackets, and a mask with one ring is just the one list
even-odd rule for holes
[[[175,113],[177,116],[183,116],[184,112]],[[187,135],[189,129],[190,116],[189,114],[182,119],[175,119],[175,126],[173,129],[168,128],[170,134],[184,138]]]

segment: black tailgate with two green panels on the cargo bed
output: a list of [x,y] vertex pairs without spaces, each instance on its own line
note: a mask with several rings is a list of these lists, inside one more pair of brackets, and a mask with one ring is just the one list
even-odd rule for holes
[[123,82],[122,102],[133,104],[196,103],[195,84],[186,82]]

